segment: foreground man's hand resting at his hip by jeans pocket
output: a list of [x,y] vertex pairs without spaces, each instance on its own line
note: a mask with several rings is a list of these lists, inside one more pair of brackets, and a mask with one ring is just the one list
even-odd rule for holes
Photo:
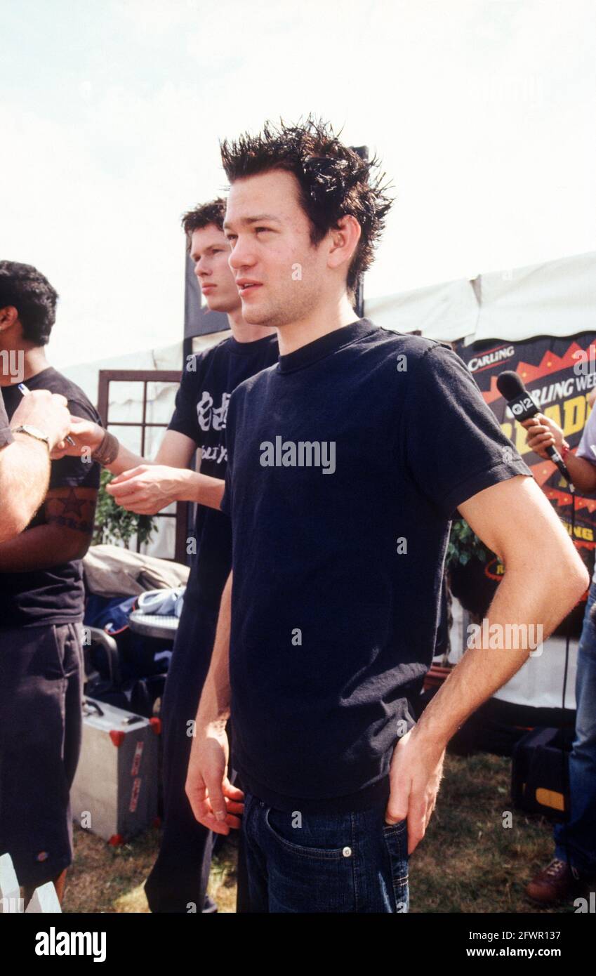
[[385,820],[408,818],[408,854],[425,834],[443,775],[445,748],[430,746],[416,727],[397,743],[389,767],[390,793]]

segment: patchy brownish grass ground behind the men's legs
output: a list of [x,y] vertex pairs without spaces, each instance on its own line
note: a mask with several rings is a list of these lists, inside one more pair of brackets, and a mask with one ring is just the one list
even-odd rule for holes
[[[513,810],[509,759],[479,753],[448,755],[437,808],[411,858],[412,912],[573,912],[572,904],[537,910],[524,884],[552,857],[551,826]],[[511,812],[511,827],[503,814]],[[155,859],[159,831],[109,847],[75,828],[75,860],[64,912],[148,912],[143,882]],[[236,846],[216,857],[210,894],[219,912],[235,912]]]

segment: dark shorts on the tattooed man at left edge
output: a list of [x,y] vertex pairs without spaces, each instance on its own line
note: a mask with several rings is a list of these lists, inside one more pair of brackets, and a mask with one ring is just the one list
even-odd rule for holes
[[20,884],[72,861],[83,674],[81,624],[0,629],[0,853]]

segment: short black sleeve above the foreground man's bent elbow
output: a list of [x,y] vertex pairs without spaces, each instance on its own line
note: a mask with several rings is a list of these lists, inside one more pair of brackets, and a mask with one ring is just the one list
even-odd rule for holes
[[457,354],[429,346],[412,371],[404,412],[407,462],[447,518],[478,492],[532,471]]

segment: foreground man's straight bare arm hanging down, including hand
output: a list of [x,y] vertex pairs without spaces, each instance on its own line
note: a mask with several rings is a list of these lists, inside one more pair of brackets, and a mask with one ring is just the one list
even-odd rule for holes
[[244,793],[227,778],[229,745],[225,722],[230,713],[229,638],[232,574],[221,594],[211,665],[195,719],[185,792],[196,819],[216,834],[240,827]]

